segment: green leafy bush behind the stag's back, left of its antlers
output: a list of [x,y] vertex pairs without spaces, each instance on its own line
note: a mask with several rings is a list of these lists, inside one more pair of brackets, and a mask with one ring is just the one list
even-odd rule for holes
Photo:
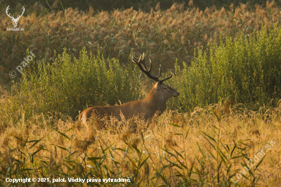
[[79,60],[64,52],[52,64],[37,61],[31,66],[22,73],[13,98],[14,110],[23,107],[26,116],[61,112],[75,118],[86,106],[120,104],[141,95],[138,69],[115,59],[107,62],[100,54],[88,57],[85,49]]

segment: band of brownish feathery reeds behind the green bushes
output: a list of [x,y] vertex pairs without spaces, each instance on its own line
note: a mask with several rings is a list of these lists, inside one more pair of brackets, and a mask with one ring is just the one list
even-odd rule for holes
[[91,8],[87,12],[72,8],[46,11],[37,4],[20,18],[18,27],[25,31],[8,32],[12,21],[4,8],[1,12],[0,75],[6,82],[11,80],[8,73],[26,57],[27,49],[39,60],[52,61],[54,50],[61,54],[66,48],[78,58],[84,46],[97,54],[99,45],[106,58],[115,57],[127,63],[130,53],[145,52],[156,62],[155,67],[161,62],[162,67],[173,68],[175,58],[190,62],[194,48],[205,48],[208,42],[219,41],[220,35],[236,36],[241,31],[251,35],[261,30],[262,25],[279,25],[281,18],[274,1],[266,7],[247,3],[237,8],[209,7],[204,11],[192,4],[187,10],[174,4],[165,11],[156,6],[148,13],[132,8],[110,12],[95,12]]

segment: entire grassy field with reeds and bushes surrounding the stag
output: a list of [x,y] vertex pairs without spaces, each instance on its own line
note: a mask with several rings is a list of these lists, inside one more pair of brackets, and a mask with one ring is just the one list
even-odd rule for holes
[[[1,10],[0,186],[279,186],[274,2],[149,13],[52,7],[26,10],[22,32],[6,31]],[[10,78],[30,52],[36,58]],[[166,83],[180,96],[168,109],[148,122],[78,121],[79,110],[148,94],[152,81],[129,59],[142,52],[153,71],[174,74]]]

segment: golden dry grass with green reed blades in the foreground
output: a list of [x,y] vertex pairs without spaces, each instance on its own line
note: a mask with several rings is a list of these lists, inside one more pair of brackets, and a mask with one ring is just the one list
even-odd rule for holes
[[[82,186],[67,178],[128,178],[131,182],[91,182],[89,186],[235,186],[231,180],[248,159],[273,144],[238,181],[239,186],[278,186],[281,106],[258,112],[231,111],[229,104],[165,112],[145,123],[120,122],[106,129],[95,116],[87,125],[67,116],[34,115],[17,124],[1,122],[0,176],[65,178],[66,183],[35,186]],[[52,126],[52,128],[51,128]],[[267,145],[268,144],[268,145]],[[19,183],[19,186],[24,184]],[[28,185],[31,185],[29,183]]]

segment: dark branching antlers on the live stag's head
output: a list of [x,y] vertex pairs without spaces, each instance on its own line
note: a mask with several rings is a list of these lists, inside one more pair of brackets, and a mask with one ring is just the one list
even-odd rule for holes
[[159,67],[159,73],[156,75],[156,76],[153,76],[150,74],[151,72],[151,60],[149,59],[149,70],[147,70],[147,67],[146,67],[146,63],[145,63],[145,53],[143,53],[143,59],[142,59],[142,56],[139,55],[139,59],[137,60],[135,58],[135,56],[132,54],[132,61],[140,68],[140,70],[142,72],[144,72],[149,78],[151,78],[152,80],[156,81],[156,82],[159,82],[159,84],[161,84],[162,82],[170,79],[173,74],[171,73],[171,75],[169,77],[166,77],[165,79],[162,79],[162,80],[159,80],[159,77],[161,75],[161,64],[160,64],[160,67]]

